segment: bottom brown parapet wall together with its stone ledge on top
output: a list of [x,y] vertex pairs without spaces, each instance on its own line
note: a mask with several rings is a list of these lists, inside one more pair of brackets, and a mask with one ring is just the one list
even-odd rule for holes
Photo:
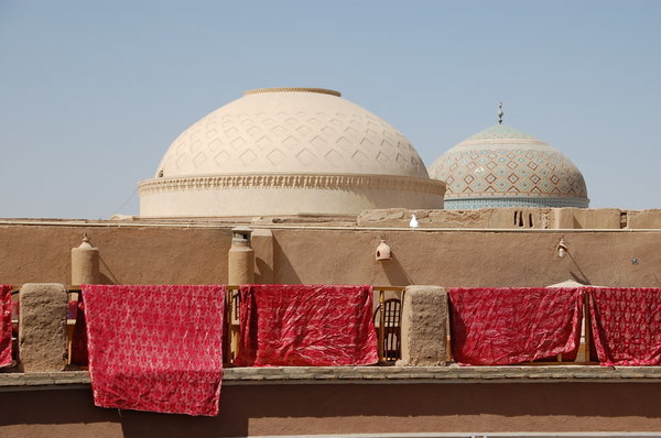
[[96,407],[86,372],[0,374],[0,435],[659,436],[658,374],[584,366],[226,369],[217,417]]

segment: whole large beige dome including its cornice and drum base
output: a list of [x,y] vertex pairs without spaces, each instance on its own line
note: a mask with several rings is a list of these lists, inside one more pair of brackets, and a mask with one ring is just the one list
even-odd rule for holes
[[142,216],[358,213],[442,208],[413,145],[337,91],[247,91],[185,130],[153,179]]

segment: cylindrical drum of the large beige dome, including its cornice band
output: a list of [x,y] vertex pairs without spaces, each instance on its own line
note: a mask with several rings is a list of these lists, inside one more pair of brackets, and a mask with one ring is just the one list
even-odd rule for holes
[[443,208],[443,182],[388,175],[225,175],[139,184],[142,217],[358,215],[373,208]]

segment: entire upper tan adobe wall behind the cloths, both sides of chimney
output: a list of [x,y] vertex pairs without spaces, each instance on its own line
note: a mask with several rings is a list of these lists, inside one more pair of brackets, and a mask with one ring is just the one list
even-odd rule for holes
[[[83,232],[99,248],[101,281],[227,282],[231,226],[1,226],[0,283],[71,283]],[[659,231],[423,231],[278,229],[256,249],[258,281],[296,284],[546,286],[574,278],[605,286],[661,286]],[[563,238],[568,254],[556,255]],[[380,239],[392,260],[377,262]],[[268,275],[266,275],[267,273]]]

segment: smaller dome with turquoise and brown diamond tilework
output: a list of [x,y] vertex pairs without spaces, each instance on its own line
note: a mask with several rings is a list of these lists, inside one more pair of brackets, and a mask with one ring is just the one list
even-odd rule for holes
[[464,140],[436,160],[429,173],[447,184],[447,209],[589,204],[583,175],[570,158],[505,124]]

